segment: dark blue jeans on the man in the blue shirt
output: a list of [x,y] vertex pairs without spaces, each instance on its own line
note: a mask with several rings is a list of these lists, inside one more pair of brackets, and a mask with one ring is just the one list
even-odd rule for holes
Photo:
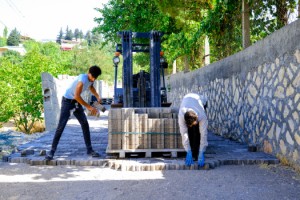
[[85,142],[85,145],[87,148],[87,153],[90,153],[91,151],[93,151],[89,123],[88,123],[86,115],[83,111],[82,105],[80,103],[77,103],[76,100],[67,99],[67,98],[63,97],[62,101],[61,101],[61,111],[60,111],[59,122],[58,122],[58,126],[56,128],[56,132],[55,132],[55,135],[54,135],[54,138],[52,141],[51,151],[53,151],[53,153],[56,151],[60,137],[61,137],[61,135],[66,127],[66,124],[70,118],[70,115],[71,115],[70,112],[74,108],[75,108],[75,111],[73,113],[81,125],[84,142]]

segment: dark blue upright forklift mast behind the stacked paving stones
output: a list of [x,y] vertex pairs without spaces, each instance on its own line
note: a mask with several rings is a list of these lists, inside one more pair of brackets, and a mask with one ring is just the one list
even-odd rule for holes
[[[133,64],[132,54],[133,52],[149,52],[150,54],[150,102],[147,104],[140,104],[140,107],[161,107],[161,85],[160,85],[160,52],[161,52],[161,37],[162,33],[158,31],[151,31],[147,33],[122,31],[118,32],[118,36],[121,37],[122,44],[116,45],[116,52],[120,52],[123,55],[123,71],[122,71],[122,101],[123,107],[136,107],[134,99],[143,99],[143,95],[146,94],[145,88],[139,88],[141,91],[135,92],[133,88]],[[133,43],[133,38],[149,38],[149,44],[136,44]],[[162,69],[163,70],[163,69]],[[143,78],[144,73],[140,73],[140,78]],[[117,77],[115,76],[115,79]],[[144,79],[141,79],[145,81]],[[115,81],[116,82],[116,81]],[[140,86],[145,87],[145,82],[139,83]],[[165,86],[164,86],[165,87]],[[115,97],[117,98],[117,90],[119,88],[115,86]]]

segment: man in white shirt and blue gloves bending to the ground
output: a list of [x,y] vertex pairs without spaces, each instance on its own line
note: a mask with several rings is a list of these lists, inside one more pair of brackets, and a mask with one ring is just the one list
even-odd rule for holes
[[207,98],[195,93],[189,93],[182,99],[178,122],[182,144],[187,152],[185,164],[191,166],[198,159],[198,165],[205,164],[204,152],[207,143],[207,116],[205,113]]

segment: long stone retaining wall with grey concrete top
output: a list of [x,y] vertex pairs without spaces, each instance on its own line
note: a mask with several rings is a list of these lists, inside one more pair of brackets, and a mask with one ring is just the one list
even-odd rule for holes
[[300,20],[166,83],[172,107],[189,92],[206,94],[210,130],[300,166]]

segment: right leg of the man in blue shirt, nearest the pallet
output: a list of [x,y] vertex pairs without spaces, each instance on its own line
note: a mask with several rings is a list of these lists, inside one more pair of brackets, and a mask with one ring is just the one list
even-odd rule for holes
[[76,110],[74,112],[74,115],[81,125],[84,142],[85,142],[86,149],[87,149],[87,154],[90,154],[93,157],[99,157],[100,155],[98,153],[94,152],[94,150],[93,150],[92,143],[91,143],[91,134],[90,134],[89,123],[87,121],[86,115],[84,114],[83,108],[80,104],[78,104],[78,107],[76,108]]

